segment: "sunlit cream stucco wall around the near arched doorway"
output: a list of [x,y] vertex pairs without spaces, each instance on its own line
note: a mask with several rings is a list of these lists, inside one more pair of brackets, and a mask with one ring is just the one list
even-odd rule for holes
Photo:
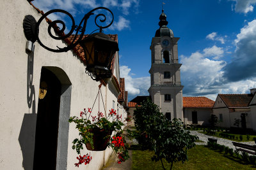
[[[42,67],[58,67],[67,74],[72,83],[70,116],[78,116],[83,108],[91,108],[97,92],[99,90],[99,82],[93,81],[88,74],[85,74],[84,64],[72,52],[53,53],[42,48],[35,43],[35,52],[33,55],[26,53],[26,41],[22,23],[26,15],[33,15],[38,20],[41,17],[37,11],[29,5],[26,0],[7,1],[0,3],[1,15],[0,20],[0,87],[2,94],[0,96],[0,169],[26,169],[33,167],[33,152],[35,145],[35,121],[38,106],[38,90],[40,83],[40,74]],[[50,38],[46,38],[48,24],[42,22],[40,34],[42,40],[47,40],[52,47],[56,45],[63,46],[63,43]],[[28,59],[33,59],[29,62]],[[29,67],[29,71],[28,71]],[[28,72],[31,73],[33,80],[31,86],[28,83]],[[118,72],[116,72],[118,73]],[[33,88],[35,93],[33,92]],[[104,99],[106,111],[113,107],[113,101],[117,104],[118,91],[113,88],[111,82],[107,87],[102,85],[102,97]],[[30,106],[29,97],[35,98],[35,103]],[[99,104],[100,103],[100,104]],[[117,106],[116,106],[117,107]],[[115,108],[116,109],[116,108]],[[97,99],[93,108],[93,114],[97,111],[104,111],[102,101]],[[29,133],[23,133],[22,125],[24,118],[31,117],[29,122]],[[22,123],[23,122],[23,123]],[[28,129],[27,129],[28,130]],[[23,136],[20,141],[20,136]],[[72,141],[78,137],[78,131],[75,124],[70,124],[68,132],[68,156],[67,169],[77,169],[74,163],[77,162],[77,153],[72,150]],[[22,148],[24,143],[28,143]],[[26,162],[24,162],[24,149],[29,150],[26,154]],[[84,149],[84,153],[89,153]],[[92,162],[87,166],[80,166],[78,169],[100,169],[104,162],[108,160],[111,150],[107,148],[104,152],[90,152]],[[13,160],[15,160],[13,162]]]

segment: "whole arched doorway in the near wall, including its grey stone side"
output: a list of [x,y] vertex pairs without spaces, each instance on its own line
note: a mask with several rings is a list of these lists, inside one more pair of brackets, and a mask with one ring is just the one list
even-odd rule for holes
[[58,67],[42,67],[33,169],[67,169],[71,82]]

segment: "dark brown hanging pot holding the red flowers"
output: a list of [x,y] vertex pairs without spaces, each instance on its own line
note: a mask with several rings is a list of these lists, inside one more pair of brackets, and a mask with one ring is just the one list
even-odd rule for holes
[[112,132],[107,132],[102,129],[92,129],[93,133],[93,146],[91,143],[86,143],[87,150],[102,151],[106,150],[109,142],[109,138]]

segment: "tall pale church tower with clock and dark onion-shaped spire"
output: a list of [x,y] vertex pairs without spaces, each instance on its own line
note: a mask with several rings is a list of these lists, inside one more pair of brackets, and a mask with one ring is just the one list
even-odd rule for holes
[[178,40],[172,29],[166,25],[164,10],[159,17],[160,28],[152,38],[151,50],[151,86],[148,89],[152,102],[157,104],[166,118],[180,118],[183,121],[182,89],[178,59]]

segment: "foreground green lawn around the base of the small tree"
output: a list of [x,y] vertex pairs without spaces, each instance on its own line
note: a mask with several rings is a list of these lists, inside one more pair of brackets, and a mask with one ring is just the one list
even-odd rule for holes
[[[132,170],[163,169],[161,162],[152,162],[153,151],[132,151]],[[229,155],[210,150],[201,145],[196,145],[188,151],[188,162],[175,162],[173,169],[255,169],[256,166],[245,164],[242,160]],[[168,162],[164,161],[164,167],[170,169]]]

